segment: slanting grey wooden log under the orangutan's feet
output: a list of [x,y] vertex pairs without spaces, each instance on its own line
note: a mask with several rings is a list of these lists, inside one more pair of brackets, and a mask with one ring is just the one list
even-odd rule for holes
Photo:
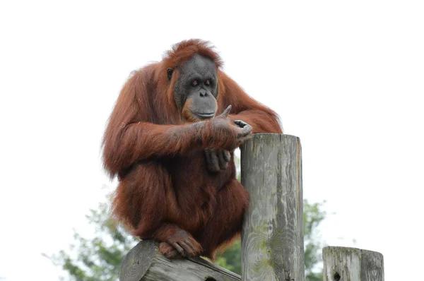
[[235,281],[240,276],[203,258],[170,260],[158,251],[158,243],[140,241],[122,261],[121,281]]

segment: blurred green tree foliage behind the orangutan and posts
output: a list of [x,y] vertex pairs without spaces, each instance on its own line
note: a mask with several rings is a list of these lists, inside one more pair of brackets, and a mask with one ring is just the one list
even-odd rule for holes
[[[305,275],[307,280],[322,280],[321,242],[317,239],[317,227],[324,220],[322,204],[304,201],[305,224]],[[50,258],[54,265],[68,273],[75,281],[118,280],[119,268],[125,254],[137,243],[126,230],[115,225],[109,217],[107,203],[100,203],[98,210],[90,210],[88,222],[95,227],[95,237],[86,239],[74,233],[74,243],[69,252],[59,251]],[[236,241],[230,249],[221,253],[216,263],[232,272],[241,273],[241,245]]]

